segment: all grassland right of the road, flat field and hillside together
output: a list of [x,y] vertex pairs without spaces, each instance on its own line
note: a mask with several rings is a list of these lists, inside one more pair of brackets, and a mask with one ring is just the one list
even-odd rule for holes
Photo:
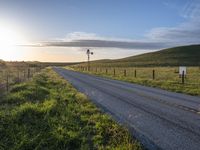
[[[97,60],[92,61],[90,65],[93,70],[84,72],[200,96],[200,45],[169,48],[123,59]],[[181,84],[181,78],[177,73],[178,66],[188,66],[185,84]],[[83,71],[81,68],[86,70],[87,63],[74,65],[71,68]],[[97,72],[96,68],[98,68]],[[106,69],[108,69],[108,73],[106,73]],[[116,70],[115,76],[113,69]],[[126,77],[123,75],[125,69],[127,71]],[[134,77],[135,69],[137,70],[136,78]],[[152,80],[153,69],[155,70],[155,80]]]

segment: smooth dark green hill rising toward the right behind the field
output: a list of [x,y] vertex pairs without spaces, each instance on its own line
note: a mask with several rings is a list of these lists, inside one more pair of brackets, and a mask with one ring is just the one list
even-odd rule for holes
[[98,60],[92,66],[200,66],[200,45],[164,49],[116,60]]

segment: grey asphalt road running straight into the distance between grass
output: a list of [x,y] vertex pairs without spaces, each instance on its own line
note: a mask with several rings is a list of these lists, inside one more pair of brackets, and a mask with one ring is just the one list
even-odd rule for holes
[[200,98],[61,68],[54,70],[148,149],[200,150]]

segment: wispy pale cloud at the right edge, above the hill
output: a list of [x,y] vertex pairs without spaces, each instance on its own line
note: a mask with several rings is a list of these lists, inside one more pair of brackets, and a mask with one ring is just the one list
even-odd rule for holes
[[189,0],[182,9],[186,21],[176,27],[154,28],[146,38],[157,42],[168,42],[171,46],[200,43],[200,1]]

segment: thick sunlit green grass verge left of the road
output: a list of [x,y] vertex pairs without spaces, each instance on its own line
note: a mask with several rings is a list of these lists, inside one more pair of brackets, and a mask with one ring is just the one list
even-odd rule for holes
[[0,149],[142,149],[52,69],[0,100]]

